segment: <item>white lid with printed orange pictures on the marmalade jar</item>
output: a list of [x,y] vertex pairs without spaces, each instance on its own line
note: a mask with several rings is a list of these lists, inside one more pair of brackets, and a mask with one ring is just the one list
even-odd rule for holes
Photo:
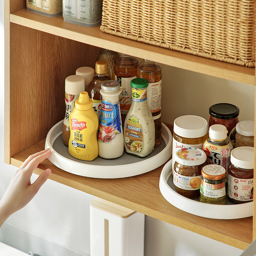
[[188,166],[200,165],[206,161],[206,153],[198,148],[183,148],[175,153],[175,161]]

